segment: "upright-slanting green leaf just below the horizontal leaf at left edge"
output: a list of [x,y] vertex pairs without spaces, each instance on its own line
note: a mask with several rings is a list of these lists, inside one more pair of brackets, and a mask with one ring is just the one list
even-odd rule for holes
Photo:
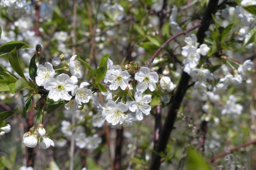
[[21,66],[20,66],[20,61],[19,61],[19,57],[18,57],[18,54],[17,54],[17,50],[16,48],[14,48],[10,53],[9,53],[9,61],[10,61],[10,64],[12,66],[12,69],[20,75],[20,77],[22,77],[23,79],[26,80],[26,77],[21,69]]

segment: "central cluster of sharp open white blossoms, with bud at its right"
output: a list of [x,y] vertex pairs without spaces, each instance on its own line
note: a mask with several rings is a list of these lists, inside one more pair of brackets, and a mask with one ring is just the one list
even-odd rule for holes
[[[148,67],[140,67],[140,70],[134,74],[134,80],[138,82],[134,93],[133,101],[127,103],[112,100],[112,93],[118,88],[122,90],[131,90],[132,86],[129,81],[132,79],[127,70],[122,71],[120,65],[113,65],[113,62],[108,59],[108,71],[104,79],[107,86],[109,86],[108,93],[104,94],[109,100],[105,106],[95,101],[98,114],[112,125],[113,128],[117,126],[131,126],[133,121],[140,121],[143,119],[143,114],[149,115],[151,111],[151,95],[142,96],[147,89],[154,91],[156,83],[158,82],[158,74],[155,71],[150,71]],[[169,77],[163,77],[160,81],[162,91],[170,92],[174,89],[174,84]],[[170,101],[170,98],[169,98]],[[135,113],[133,116],[132,113]]]

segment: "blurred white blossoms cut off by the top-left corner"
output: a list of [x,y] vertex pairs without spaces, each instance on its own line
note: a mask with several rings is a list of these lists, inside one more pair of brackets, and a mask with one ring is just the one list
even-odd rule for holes
[[0,5],[8,7],[7,12],[9,14],[21,12],[27,9],[26,0],[1,0]]

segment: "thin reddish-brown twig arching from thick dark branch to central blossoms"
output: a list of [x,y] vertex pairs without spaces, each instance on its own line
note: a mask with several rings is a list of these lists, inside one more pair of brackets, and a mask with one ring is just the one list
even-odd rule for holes
[[171,38],[169,38],[167,41],[165,41],[165,43],[164,44],[162,44],[161,45],[161,47],[159,47],[157,50],[156,50],[156,52],[155,52],[155,54],[153,54],[153,56],[151,56],[151,58],[149,59],[149,61],[146,63],[146,67],[149,67],[149,65],[151,64],[151,63],[153,63],[153,61],[155,60],[155,58],[156,58],[156,56],[158,55],[158,53],[160,53],[161,52],[161,50],[167,45],[167,44],[169,44],[172,40],[174,40],[175,38],[177,38],[177,37],[179,37],[179,36],[181,36],[181,35],[186,35],[188,32],[190,32],[190,31],[192,31],[192,30],[194,30],[194,29],[196,29],[196,28],[198,28],[198,27],[201,27],[201,23],[198,23],[198,24],[196,24],[194,27],[191,27],[191,28],[189,28],[189,29],[187,29],[187,30],[185,30],[185,31],[182,31],[182,32],[179,32],[179,33],[177,33],[177,35],[174,35],[174,36],[172,36]]

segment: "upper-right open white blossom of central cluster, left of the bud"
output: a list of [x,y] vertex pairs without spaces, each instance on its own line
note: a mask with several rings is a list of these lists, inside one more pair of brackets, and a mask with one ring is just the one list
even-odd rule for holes
[[148,67],[140,67],[140,71],[135,73],[134,79],[139,81],[136,86],[137,91],[144,92],[147,88],[150,91],[154,91],[158,81],[158,74],[154,71],[150,72]]

